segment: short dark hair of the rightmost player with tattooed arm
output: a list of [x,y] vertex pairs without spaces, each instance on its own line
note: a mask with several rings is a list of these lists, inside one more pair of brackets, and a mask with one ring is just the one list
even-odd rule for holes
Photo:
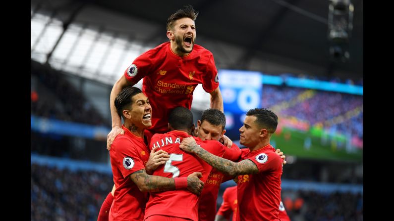
[[246,116],[255,116],[256,123],[261,128],[267,129],[269,133],[275,133],[278,126],[278,116],[265,108],[251,109],[246,113]]

